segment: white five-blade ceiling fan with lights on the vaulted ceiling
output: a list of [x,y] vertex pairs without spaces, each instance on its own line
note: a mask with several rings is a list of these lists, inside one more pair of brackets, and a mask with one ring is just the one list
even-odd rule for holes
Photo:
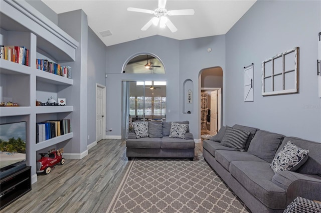
[[144,12],[149,14],[154,14],[156,17],[152,17],[142,28],[141,30],[148,29],[151,24],[154,24],[155,26],[158,25],[164,28],[165,26],[168,26],[169,29],[172,32],[176,32],[177,28],[173,24],[173,22],[167,17],[167,15],[194,15],[194,9],[175,9],[175,10],[167,10],[165,8],[166,6],[166,0],[158,0],[158,8],[154,10],[150,9],[141,9],[141,8],[134,8],[134,7],[128,7],[128,11],[134,11],[134,12]]

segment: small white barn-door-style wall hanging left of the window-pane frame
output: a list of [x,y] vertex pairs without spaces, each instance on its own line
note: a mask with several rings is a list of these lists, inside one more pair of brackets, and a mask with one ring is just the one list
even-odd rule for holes
[[254,63],[248,66],[244,66],[243,80],[244,80],[244,102],[253,101],[254,96]]

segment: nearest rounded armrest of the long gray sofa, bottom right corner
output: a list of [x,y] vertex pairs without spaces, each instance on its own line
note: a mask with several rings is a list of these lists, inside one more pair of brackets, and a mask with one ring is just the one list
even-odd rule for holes
[[274,174],[272,182],[286,190],[286,204],[297,196],[321,200],[321,176],[319,175],[280,171]]

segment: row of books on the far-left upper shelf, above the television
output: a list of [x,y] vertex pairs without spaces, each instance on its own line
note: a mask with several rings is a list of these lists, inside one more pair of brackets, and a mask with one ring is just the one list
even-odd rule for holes
[[25,46],[0,46],[2,59],[29,66],[29,49]]

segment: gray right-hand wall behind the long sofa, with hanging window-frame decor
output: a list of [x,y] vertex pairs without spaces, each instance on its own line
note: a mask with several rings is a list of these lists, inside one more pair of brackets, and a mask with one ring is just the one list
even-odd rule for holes
[[[225,124],[321,141],[317,33],[321,1],[257,1],[226,34]],[[261,62],[299,46],[299,93],[261,96]],[[254,102],[243,102],[243,66],[254,63]],[[224,69],[223,69],[224,71]]]

